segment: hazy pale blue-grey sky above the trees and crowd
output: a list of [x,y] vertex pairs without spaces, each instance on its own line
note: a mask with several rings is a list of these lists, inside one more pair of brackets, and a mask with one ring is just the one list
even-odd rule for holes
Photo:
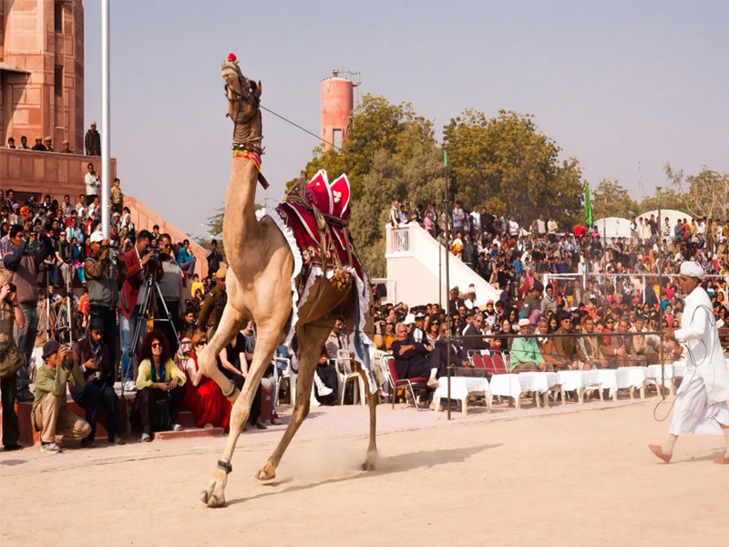
[[[100,126],[100,5],[84,4],[86,121]],[[263,104],[314,133],[320,80],[345,67],[438,135],[465,108],[534,114],[593,189],[619,179],[640,199],[665,184],[666,161],[729,171],[727,22],[725,2],[111,0],[112,155],[125,193],[206,232],[230,178],[232,51]],[[263,133],[272,187],[258,201],[272,203],[318,143],[265,112]]]

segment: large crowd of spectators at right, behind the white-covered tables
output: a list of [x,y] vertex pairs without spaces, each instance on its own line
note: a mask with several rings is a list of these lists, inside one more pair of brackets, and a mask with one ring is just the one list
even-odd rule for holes
[[[394,228],[417,222],[441,240],[449,222],[451,237],[442,243],[502,292],[496,302],[484,302],[473,285],[463,292],[454,287],[447,302],[450,325],[439,304],[374,309],[376,346],[393,353],[401,377],[427,377],[436,385],[445,374],[445,351],[467,374],[475,351],[504,356],[514,371],[642,366],[658,363],[661,355],[673,361],[679,346],[638,333],[680,325],[677,277],[684,260],[700,263],[708,274],[703,286],[729,346],[729,219],[683,219],[673,227],[665,219],[661,227],[653,215],[633,218],[630,238],[605,240],[597,227],[560,232],[543,214],[525,222],[519,213],[496,215],[490,207],[467,213],[459,203],[448,216],[436,211],[435,204],[412,208],[395,201],[389,222]],[[444,350],[448,331],[451,347]],[[526,336],[535,333],[543,337]],[[549,337],[553,333],[560,336]]]

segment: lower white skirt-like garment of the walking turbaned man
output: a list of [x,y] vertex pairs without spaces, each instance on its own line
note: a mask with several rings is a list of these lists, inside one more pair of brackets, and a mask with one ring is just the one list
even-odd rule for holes
[[671,435],[723,435],[719,424],[729,426],[729,403],[720,401],[709,405],[703,378],[698,374],[690,378],[676,397],[668,432]]

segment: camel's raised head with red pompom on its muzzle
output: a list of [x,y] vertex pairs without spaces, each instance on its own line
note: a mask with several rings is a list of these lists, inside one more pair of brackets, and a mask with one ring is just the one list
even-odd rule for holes
[[228,98],[228,116],[234,124],[233,148],[261,153],[261,82],[244,77],[238,59],[230,54],[221,65]]

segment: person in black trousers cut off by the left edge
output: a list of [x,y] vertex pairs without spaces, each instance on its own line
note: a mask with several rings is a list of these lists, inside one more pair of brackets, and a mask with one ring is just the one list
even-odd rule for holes
[[17,440],[20,428],[15,415],[17,371],[25,361],[15,345],[13,324],[22,329],[25,317],[17,305],[17,296],[10,290],[10,274],[0,269],[0,393],[3,405],[3,444],[5,451],[20,449]]

